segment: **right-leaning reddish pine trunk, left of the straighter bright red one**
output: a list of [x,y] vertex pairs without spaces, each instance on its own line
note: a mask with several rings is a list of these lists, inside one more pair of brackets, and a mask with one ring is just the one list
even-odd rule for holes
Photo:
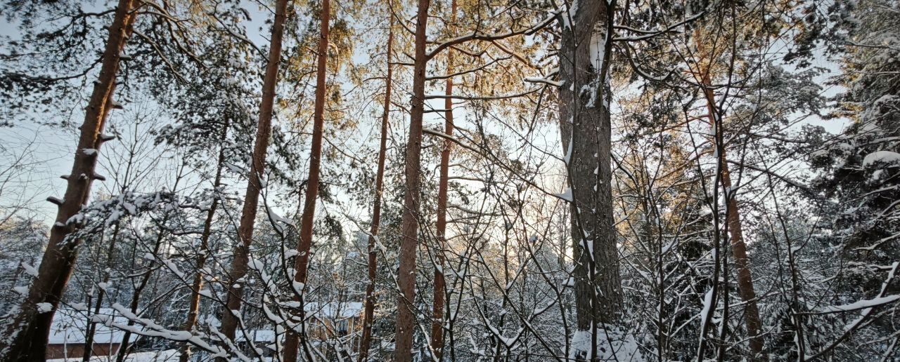
[[259,104],[259,122],[257,125],[256,145],[253,148],[253,160],[247,175],[247,192],[244,194],[244,207],[241,211],[238,237],[240,243],[234,250],[228,282],[228,301],[222,311],[221,332],[234,341],[238,329],[238,315],[241,298],[244,296],[244,285],[238,282],[247,275],[247,260],[250,243],[253,241],[253,226],[257,219],[260,180],[266,172],[266,149],[269,146],[269,135],[272,133],[272,107],[275,103],[275,84],[278,83],[278,66],[281,63],[282,37],[284,34],[284,18],[287,11],[287,0],[278,0],[275,4],[275,22],[272,23],[272,40],[269,41],[269,62],[266,65],[266,76],[263,79],[263,99]]

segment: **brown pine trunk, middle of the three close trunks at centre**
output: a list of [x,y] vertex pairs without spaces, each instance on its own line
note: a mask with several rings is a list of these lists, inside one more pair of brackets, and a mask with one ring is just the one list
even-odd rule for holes
[[401,225],[400,270],[397,284],[401,294],[397,298],[396,362],[412,360],[412,336],[415,324],[413,304],[416,300],[416,252],[419,246],[419,173],[422,155],[422,116],[425,111],[425,68],[428,58],[426,27],[429,0],[419,0],[416,14],[416,51],[412,74],[412,109],[410,110],[410,138],[406,145],[406,196],[403,199]]

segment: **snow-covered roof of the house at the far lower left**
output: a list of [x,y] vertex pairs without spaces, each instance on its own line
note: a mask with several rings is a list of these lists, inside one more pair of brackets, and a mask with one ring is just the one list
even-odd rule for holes
[[[79,308],[80,309],[80,308]],[[112,327],[112,323],[127,324],[128,319],[116,313],[112,308],[100,308],[100,313],[91,317],[96,323],[94,331],[94,343],[120,343],[125,331]],[[85,343],[87,331],[87,311],[76,311],[72,308],[59,308],[53,314],[53,324],[50,326],[49,344],[80,344]],[[134,341],[137,335],[131,334],[129,340]]]

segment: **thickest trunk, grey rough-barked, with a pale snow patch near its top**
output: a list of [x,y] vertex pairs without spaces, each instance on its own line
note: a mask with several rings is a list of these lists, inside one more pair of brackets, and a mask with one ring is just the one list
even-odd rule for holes
[[598,356],[598,325],[614,324],[622,309],[610,167],[608,63],[614,6],[580,3],[563,25],[560,49],[560,122],[563,132],[569,131],[563,145],[571,186],[563,198],[572,201],[577,326],[590,333],[591,344],[579,358]]

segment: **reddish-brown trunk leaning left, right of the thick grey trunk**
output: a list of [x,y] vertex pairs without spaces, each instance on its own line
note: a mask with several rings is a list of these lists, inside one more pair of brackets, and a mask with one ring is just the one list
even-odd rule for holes
[[[713,93],[708,69],[703,75],[704,95],[707,99],[707,113],[710,125],[714,129],[718,129],[717,135],[714,136],[716,144],[723,142],[722,131],[722,111],[716,107],[716,94]],[[728,157],[725,153],[725,145],[719,147],[722,151],[723,162],[719,165],[719,177],[722,180],[722,188],[728,193],[726,198],[725,214],[727,215],[728,234],[731,237],[732,256],[734,257],[734,267],[737,269],[737,291],[744,303],[744,323],[747,326],[747,333],[750,337],[750,352],[752,360],[768,359],[763,352],[763,336],[762,322],[760,319],[760,308],[756,303],[756,290],[753,288],[753,276],[750,271],[750,261],[747,258],[747,245],[743,242],[743,225],[741,223],[741,211],[737,207],[737,197],[732,190],[731,172],[728,169]]]

